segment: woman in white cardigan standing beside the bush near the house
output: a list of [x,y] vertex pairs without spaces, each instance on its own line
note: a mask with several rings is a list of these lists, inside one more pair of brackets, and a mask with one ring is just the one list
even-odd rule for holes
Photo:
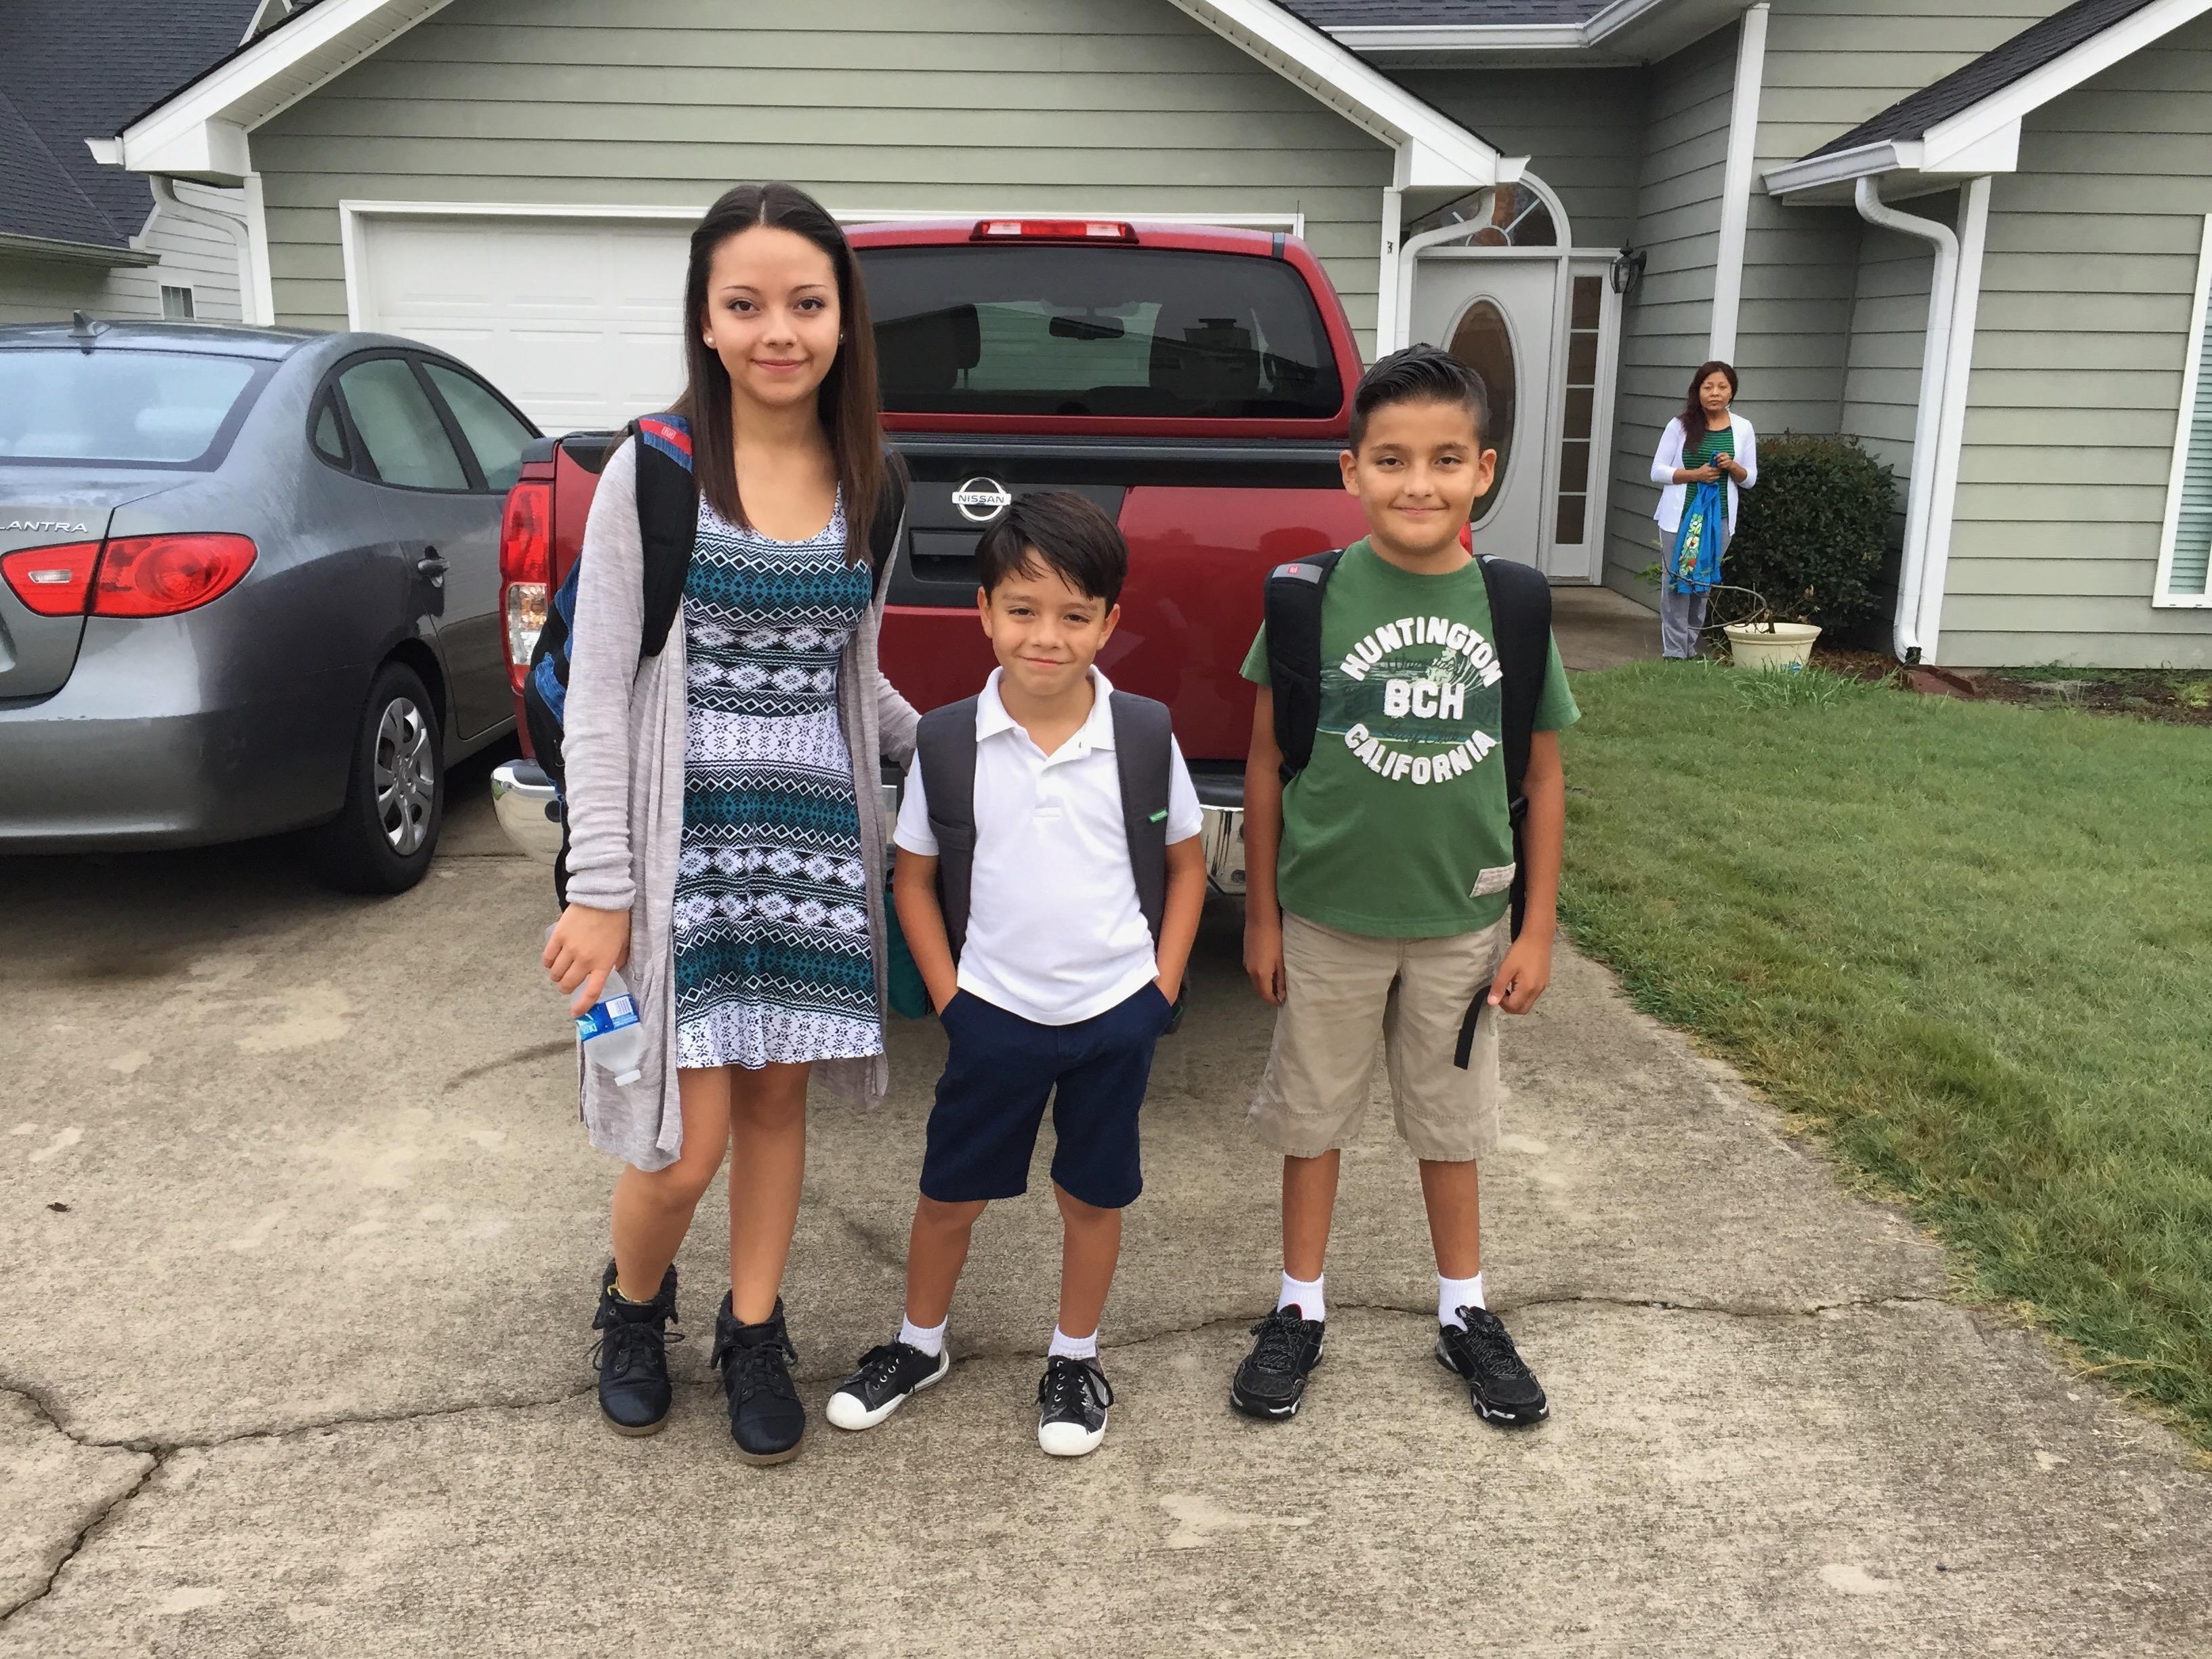
[[1652,482],[1666,484],[1652,518],[1663,531],[1659,650],[1668,657],[1697,655],[1705,602],[1736,533],[1736,491],[1759,484],[1759,434],[1730,414],[1734,400],[1736,372],[1725,363],[1701,365],[1652,456]]

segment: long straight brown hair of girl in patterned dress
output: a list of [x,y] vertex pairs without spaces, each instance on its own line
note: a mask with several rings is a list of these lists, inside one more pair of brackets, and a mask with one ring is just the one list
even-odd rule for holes
[[883,420],[876,392],[876,330],[867,316],[867,288],[860,281],[852,243],[836,219],[792,184],[739,184],[706,210],[692,230],[690,270],[684,276],[684,396],[677,414],[692,429],[692,476],[708,504],[732,524],[745,524],[745,504],[737,498],[737,431],[730,416],[730,372],[701,338],[706,323],[706,279],[714,250],[723,241],[770,226],[805,237],[836,268],[838,321],[845,338],[836,361],[814,394],[816,414],[830,438],[838,487],[845,493],[845,562],[869,555],[869,524],[883,498]]

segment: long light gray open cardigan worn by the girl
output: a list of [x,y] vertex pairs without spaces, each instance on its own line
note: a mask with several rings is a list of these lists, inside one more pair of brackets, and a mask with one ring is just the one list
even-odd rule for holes
[[[905,524],[900,524],[905,529]],[[863,531],[865,533],[865,531]],[[630,960],[622,975],[637,1013],[657,1035],[635,1084],[582,1068],[582,1113],[591,1144],[641,1170],[661,1170],[684,1150],[677,1104],[675,894],[684,838],[684,619],[668,646],[644,664],[644,546],[637,535],[637,445],[624,442],[599,473],[584,520],[575,588],[575,646],[562,765],[568,799],[568,900],[630,911]],[[838,659],[836,710],[852,750],[867,860],[867,931],[876,949],[876,1006],[885,980],[885,823],[883,757],[914,754],[914,708],[876,666],[883,597],[867,608]],[[825,1060],[816,1075],[847,1099],[874,1106],[891,1082],[883,1055]]]

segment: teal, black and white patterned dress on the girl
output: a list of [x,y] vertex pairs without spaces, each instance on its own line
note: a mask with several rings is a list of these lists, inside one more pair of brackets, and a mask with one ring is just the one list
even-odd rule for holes
[[869,602],[845,504],[776,542],[699,500],[684,580],[677,1064],[883,1051],[838,655]]

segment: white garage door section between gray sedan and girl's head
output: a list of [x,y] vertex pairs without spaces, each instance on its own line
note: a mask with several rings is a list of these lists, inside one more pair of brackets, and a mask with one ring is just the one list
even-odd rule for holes
[[436,345],[544,431],[619,427],[684,389],[684,221],[363,215],[361,327]]

